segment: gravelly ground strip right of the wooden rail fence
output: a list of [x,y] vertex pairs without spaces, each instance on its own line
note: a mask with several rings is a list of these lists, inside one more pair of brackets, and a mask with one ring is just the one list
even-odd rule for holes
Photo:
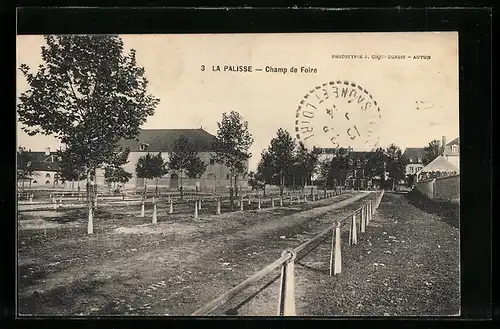
[[[346,241],[347,234],[343,238]],[[341,275],[327,274],[328,243],[297,266],[297,313],[458,315],[459,246],[459,229],[446,218],[413,206],[404,195],[386,193],[359,244],[343,245]],[[267,298],[274,296],[271,290],[269,294]],[[267,305],[276,307],[273,302]],[[249,311],[251,306],[240,313]]]

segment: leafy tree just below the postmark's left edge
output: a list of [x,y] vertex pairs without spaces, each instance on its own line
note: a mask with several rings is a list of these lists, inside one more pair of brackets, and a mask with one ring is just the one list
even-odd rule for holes
[[280,128],[267,151],[262,154],[263,166],[272,168],[273,178],[279,177],[280,195],[283,195],[285,175],[295,164],[295,147],[295,140],[290,133]]

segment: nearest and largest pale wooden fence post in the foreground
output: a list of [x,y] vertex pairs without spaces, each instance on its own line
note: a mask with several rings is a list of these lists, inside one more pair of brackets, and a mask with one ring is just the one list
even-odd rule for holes
[[295,316],[295,259],[297,254],[292,249],[283,251],[291,258],[281,267],[280,292],[278,298],[278,316]]

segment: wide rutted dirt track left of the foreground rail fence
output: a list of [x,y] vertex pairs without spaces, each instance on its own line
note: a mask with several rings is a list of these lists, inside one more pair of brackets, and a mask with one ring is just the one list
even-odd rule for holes
[[[307,238],[294,230],[322,226],[322,216],[363,197],[206,215],[198,223],[160,222],[137,234],[117,233],[118,227],[105,236],[72,239],[72,228],[68,238],[35,249],[28,235],[19,257],[20,312],[188,315]],[[309,209],[297,213],[301,207]]]

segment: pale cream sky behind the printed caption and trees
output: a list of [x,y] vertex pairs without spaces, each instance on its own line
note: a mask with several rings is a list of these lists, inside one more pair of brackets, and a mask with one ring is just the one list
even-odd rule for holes
[[[143,126],[199,128],[217,133],[223,112],[235,110],[254,137],[250,169],[279,128],[295,135],[295,112],[315,86],[348,80],[366,88],[381,110],[381,146],[423,147],[432,139],[458,137],[458,34],[226,34],[122,35],[125,50],[137,50],[149,92],[160,98]],[[17,66],[42,63],[42,36],[17,37]],[[431,59],[332,59],[332,55],[426,55]],[[201,66],[205,65],[205,71]],[[212,66],[252,65],[254,72],[213,72]],[[317,73],[266,73],[266,66],[317,68]],[[18,95],[27,83],[18,71]],[[417,109],[418,107],[418,109]],[[49,136],[27,136],[18,144],[42,151],[58,148]],[[331,147],[329,145],[317,145]],[[342,145],[348,146],[348,145]],[[359,145],[349,145],[357,148]]]

